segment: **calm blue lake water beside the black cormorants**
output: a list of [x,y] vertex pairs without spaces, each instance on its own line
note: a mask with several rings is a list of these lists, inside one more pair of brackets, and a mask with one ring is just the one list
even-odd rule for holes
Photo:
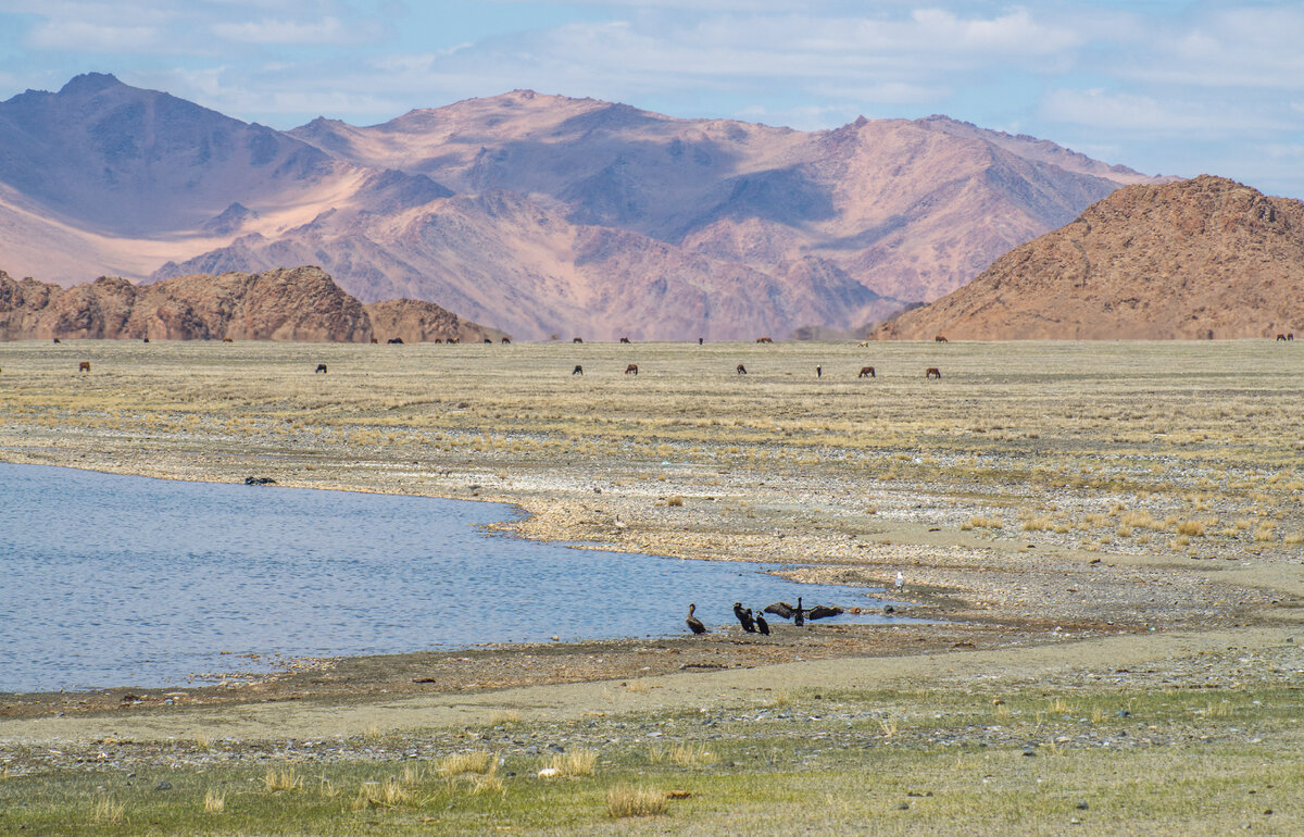
[[738,600],[876,604],[759,565],[481,529],[514,514],[0,464],[0,691],[156,687],[258,668],[220,652],[373,654],[682,634],[690,601],[707,624],[733,623]]

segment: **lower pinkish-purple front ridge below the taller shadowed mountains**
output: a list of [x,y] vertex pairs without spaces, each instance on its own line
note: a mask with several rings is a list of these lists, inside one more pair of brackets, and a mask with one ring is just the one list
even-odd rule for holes
[[[848,327],[897,308],[815,259],[778,276],[610,227],[574,224],[510,192],[393,215],[326,216],[278,239],[245,236],[167,272],[318,261],[364,300],[437,299],[527,340],[751,339],[803,322]],[[777,272],[777,271],[776,271]]]

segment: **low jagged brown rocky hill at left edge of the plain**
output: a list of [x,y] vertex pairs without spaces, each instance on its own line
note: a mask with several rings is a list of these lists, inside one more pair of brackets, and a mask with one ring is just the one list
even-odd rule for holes
[[0,340],[366,343],[373,334],[404,342],[501,336],[432,302],[398,300],[370,308],[374,322],[361,302],[318,267],[180,276],[143,287],[100,276],[68,289],[30,278],[14,280],[0,271]]

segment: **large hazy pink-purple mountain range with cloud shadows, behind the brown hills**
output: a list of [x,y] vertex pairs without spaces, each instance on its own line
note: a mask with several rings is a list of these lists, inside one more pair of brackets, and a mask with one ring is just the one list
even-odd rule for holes
[[0,267],[319,265],[519,339],[858,332],[1153,181],[940,116],[798,132],[512,91],[276,132],[93,73],[0,103]]

